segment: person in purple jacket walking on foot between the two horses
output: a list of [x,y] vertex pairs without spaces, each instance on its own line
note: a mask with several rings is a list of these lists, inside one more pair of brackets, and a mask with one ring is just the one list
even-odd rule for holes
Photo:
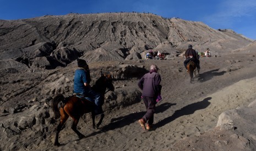
[[157,73],[156,65],[150,66],[149,73],[143,75],[138,86],[142,90],[142,98],[146,106],[146,114],[139,119],[139,124],[143,129],[150,130],[154,122],[155,104],[161,101],[161,77]]

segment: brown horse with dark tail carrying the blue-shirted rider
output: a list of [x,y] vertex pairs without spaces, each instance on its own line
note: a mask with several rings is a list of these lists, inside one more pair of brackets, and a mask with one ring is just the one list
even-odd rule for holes
[[[111,75],[109,73],[108,74],[101,73],[101,77],[96,81],[95,85],[92,86],[92,89],[95,92],[98,92],[100,95],[102,95],[103,98],[107,89],[108,91],[109,90],[114,91],[115,88],[112,84]],[[58,103],[61,101],[63,105],[59,108]],[[102,102],[101,104],[103,103],[104,102]],[[83,134],[81,134],[77,130],[78,121],[81,115],[91,112],[92,127],[95,129],[94,108],[95,108],[94,103],[92,103],[89,100],[79,98],[75,95],[65,98],[62,94],[59,94],[55,98],[53,98],[52,109],[53,109],[53,112],[55,113],[55,119],[58,119],[59,117],[61,117],[61,120],[59,121],[59,124],[56,129],[56,137],[55,137],[55,143],[54,143],[55,146],[59,146],[58,135],[59,135],[59,132],[62,130],[64,123],[67,121],[68,117],[71,117],[73,119],[72,130],[75,133],[77,133],[80,139],[85,137]],[[103,118],[104,118],[104,114],[101,114],[101,118],[99,120],[99,123],[97,123],[96,125],[96,129],[102,123]]]

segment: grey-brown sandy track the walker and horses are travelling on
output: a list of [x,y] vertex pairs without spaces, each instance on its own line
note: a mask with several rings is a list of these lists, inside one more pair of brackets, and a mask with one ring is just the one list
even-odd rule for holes
[[[145,113],[143,101],[106,114],[101,129],[94,130],[90,119],[82,119],[78,129],[86,138],[78,139],[70,129],[71,119],[59,135],[61,146],[53,146],[55,133],[31,149],[39,150],[170,150],[187,136],[214,128],[219,115],[247,106],[256,98],[256,68],[252,55],[203,57],[200,74],[192,84],[182,66],[183,58],[146,60],[156,64],[162,76],[163,101],[156,104],[154,127],[144,131],[138,124]],[[127,83],[134,88],[137,81]],[[53,131],[53,130],[52,130]]]

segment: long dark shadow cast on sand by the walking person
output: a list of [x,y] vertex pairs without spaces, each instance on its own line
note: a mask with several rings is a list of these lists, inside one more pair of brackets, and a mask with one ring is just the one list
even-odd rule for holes
[[175,113],[171,117],[167,117],[167,118],[159,121],[158,123],[155,124],[154,127],[156,127],[156,129],[157,129],[161,126],[164,126],[164,125],[170,123],[171,121],[173,121],[179,117],[182,117],[183,115],[193,114],[197,110],[204,109],[209,106],[209,104],[210,104],[209,100],[211,100],[211,97],[206,97],[206,98],[204,98],[203,101],[189,104],[189,105],[175,111]]

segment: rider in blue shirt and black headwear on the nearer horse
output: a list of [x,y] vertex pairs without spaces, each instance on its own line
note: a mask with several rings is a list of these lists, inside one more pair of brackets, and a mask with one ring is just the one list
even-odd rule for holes
[[90,86],[90,69],[86,61],[77,59],[78,68],[75,70],[74,75],[74,93],[82,97],[89,97],[96,105],[95,114],[102,114],[103,98],[91,89]]

